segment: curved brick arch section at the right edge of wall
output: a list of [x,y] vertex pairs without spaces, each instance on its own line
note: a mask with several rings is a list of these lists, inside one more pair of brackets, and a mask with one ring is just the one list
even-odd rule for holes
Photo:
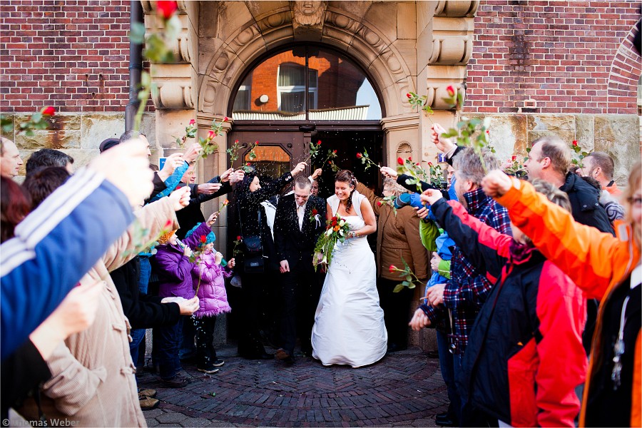
[[637,23],[628,32],[613,57],[608,73],[607,104],[604,113],[636,113],[626,106],[635,106],[638,80],[642,74],[640,54],[633,48]]

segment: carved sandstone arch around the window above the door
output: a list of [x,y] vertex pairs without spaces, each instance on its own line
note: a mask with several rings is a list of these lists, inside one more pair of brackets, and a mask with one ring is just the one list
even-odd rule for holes
[[[297,41],[289,7],[257,16],[231,34],[207,61],[199,76],[198,111],[223,115],[235,83],[260,56]],[[329,6],[321,43],[349,56],[367,70],[381,96],[386,116],[410,113],[404,96],[416,91],[412,73],[392,41],[375,26],[349,11]]]

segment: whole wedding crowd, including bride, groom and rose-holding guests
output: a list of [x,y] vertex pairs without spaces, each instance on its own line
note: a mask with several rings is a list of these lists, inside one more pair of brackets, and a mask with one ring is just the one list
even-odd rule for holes
[[[159,169],[131,131],[77,171],[65,153],[37,151],[19,185],[23,161],[2,138],[2,417],[144,426],[142,410],[158,406],[136,384],[146,331],[150,370],[185,387],[181,360],[193,355],[206,374],[225,364],[214,329],[233,311],[240,357],[282,365],[299,341],[323,365],[362,367],[405,349],[409,327],[434,328],[450,400],[442,426],[640,426],[641,163],[620,190],[606,153],[571,170],[569,144],[546,136],[518,179],[444,133],[432,127],[447,188],[417,192],[382,167],[379,196],[340,170],[326,199],[321,170],[306,177],[303,162],[275,179],[230,168],[195,183],[198,144]],[[228,193],[239,248],[226,258],[212,231],[220,210],[201,205]],[[315,270],[317,240],[344,226]],[[425,286],[411,320],[396,266]]]

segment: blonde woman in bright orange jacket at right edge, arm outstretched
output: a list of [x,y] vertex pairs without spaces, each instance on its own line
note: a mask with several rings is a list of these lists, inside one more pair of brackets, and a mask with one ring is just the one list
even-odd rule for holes
[[626,216],[615,223],[616,237],[576,223],[531,184],[499,170],[486,175],[481,185],[586,297],[600,300],[580,425],[640,427],[642,163],[633,166],[622,195]]

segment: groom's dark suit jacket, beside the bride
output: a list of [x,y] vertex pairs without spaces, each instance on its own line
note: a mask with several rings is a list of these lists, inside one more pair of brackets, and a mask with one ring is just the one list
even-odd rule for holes
[[[320,223],[310,220],[310,213],[316,209]],[[280,198],[274,219],[274,243],[279,261],[287,260],[290,270],[298,263],[305,263],[312,269],[312,253],[317,239],[325,232],[325,200],[310,196],[303,213],[303,226],[299,230],[294,193]]]

